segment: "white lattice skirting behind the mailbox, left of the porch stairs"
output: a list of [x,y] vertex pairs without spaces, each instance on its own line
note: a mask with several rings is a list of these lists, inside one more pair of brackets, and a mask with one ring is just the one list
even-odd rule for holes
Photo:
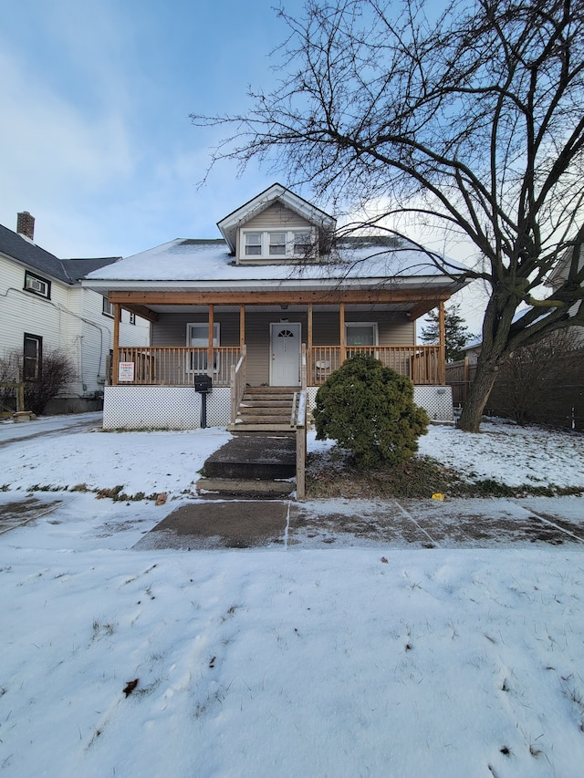
[[[228,387],[207,395],[207,427],[226,427],[231,412]],[[201,395],[191,387],[105,387],[105,430],[196,430]]]

